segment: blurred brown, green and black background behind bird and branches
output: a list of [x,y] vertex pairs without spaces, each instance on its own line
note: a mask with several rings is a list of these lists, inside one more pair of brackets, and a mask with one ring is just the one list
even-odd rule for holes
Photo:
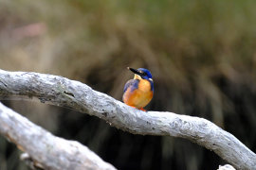
[[[76,79],[121,100],[126,67],[151,70],[147,110],[199,116],[256,150],[256,10],[240,0],[0,0],[0,68]],[[140,136],[97,117],[4,101],[118,169],[217,169],[227,163],[183,139]],[[0,169],[26,170],[0,136]]]

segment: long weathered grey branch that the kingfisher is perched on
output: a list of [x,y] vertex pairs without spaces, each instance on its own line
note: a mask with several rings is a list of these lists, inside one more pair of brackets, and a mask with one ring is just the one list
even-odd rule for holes
[[173,112],[141,111],[62,76],[0,70],[0,96],[41,102],[95,115],[111,126],[141,135],[181,137],[214,151],[237,169],[256,169],[256,155],[210,121]]

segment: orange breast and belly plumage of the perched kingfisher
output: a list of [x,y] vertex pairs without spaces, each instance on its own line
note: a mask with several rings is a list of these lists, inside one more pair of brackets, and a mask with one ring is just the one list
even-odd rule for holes
[[141,79],[137,85],[137,89],[132,91],[129,87],[123,94],[123,102],[129,106],[141,109],[145,107],[153,98],[151,84],[148,80]]

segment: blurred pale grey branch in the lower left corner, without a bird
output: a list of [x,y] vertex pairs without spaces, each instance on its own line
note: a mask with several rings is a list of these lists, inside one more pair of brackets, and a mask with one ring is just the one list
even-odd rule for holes
[[[86,146],[53,136],[0,103],[0,133],[44,169],[115,170]],[[36,164],[35,163],[35,164]]]

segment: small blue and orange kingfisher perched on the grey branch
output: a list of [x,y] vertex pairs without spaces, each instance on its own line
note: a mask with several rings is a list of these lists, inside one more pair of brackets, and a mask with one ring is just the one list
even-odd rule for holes
[[[129,105],[138,110],[144,110],[143,108],[149,104],[153,98],[154,83],[152,75],[149,70],[145,68],[133,69],[127,67],[132,71],[135,76],[134,79],[130,79],[126,82],[122,100],[126,105]],[[144,110],[146,111],[146,110]]]

